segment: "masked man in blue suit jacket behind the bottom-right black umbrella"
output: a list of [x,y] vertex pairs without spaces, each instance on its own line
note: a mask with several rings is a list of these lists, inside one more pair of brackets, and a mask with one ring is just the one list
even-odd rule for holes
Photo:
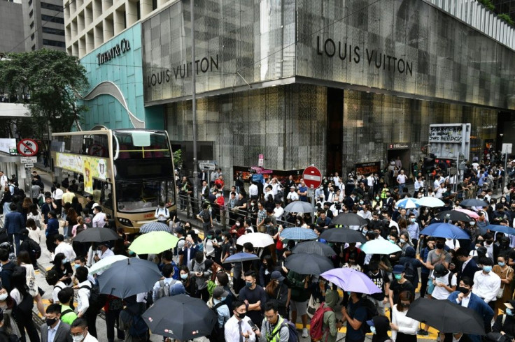
[[[458,285],[457,291],[454,291],[447,298],[449,301],[465,306],[476,311],[481,318],[483,318],[485,325],[485,332],[491,332],[491,321],[493,318],[493,310],[483,299],[472,293],[472,285],[474,282],[472,278],[463,276]],[[481,336],[479,335],[467,335],[472,342],[481,342]]]

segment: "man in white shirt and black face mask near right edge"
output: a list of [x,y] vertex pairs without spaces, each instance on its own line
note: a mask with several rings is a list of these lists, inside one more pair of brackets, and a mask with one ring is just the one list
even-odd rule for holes
[[482,258],[480,262],[483,269],[474,274],[472,293],[483,299],[493,309],[501,287],[501,278],[492,272],[493,262],[490,258]]

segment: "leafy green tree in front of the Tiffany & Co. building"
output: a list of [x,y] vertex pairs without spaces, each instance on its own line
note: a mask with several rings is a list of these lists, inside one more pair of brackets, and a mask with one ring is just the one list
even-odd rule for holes
[[52,132],[66,132],[87,110],[76,103],[78,94],[88,87],[85,71],[66,52],[13,53],[0,61],[0,89],[28,105],[31,121],[40,131],[50,125]]

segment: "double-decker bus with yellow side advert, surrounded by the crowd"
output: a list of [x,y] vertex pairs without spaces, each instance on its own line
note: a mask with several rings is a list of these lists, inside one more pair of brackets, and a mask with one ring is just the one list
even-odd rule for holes
[[160,202],[171,218],[176,213],[174,158],[166,131],[99,128],[54,133],[50,165],[57,184],[68,178],[80,202],[92,195],[127,233],[155,221]]

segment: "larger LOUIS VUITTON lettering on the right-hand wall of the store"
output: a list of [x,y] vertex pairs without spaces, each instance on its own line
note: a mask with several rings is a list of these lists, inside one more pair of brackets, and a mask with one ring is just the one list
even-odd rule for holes
[[[390,73],[400,73],[413,76],[413,62],[400,57],[390,56],[379,50],[369,50],[351,43],[334,41],[332,38],[323,40],[316,37],[316,53],[329,58],[339,58],[348,63],[360,64],[365,61],[370,67],[387,70]],[[364,58],[362,58],[364,57]],[[366,59],[365,59],[366,57]]]

